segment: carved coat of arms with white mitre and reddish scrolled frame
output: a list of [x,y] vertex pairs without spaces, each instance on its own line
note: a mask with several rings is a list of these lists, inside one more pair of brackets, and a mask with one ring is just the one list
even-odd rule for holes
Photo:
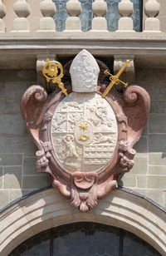
[[[71,81],[50,95],[41,86],[27,89],[21,111],[37,145],[37,170],[81,211],[117,188],[134,165],[133,146],[149,115],[149,94],[139,86],[123,93],[108,85],[106,66],[82,50],[64,66]],[[60,86],[59,86],[60,87]]]

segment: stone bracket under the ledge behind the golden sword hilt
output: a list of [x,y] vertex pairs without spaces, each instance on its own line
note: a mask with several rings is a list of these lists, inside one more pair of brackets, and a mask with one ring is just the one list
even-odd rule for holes
[[134,82],[134,55],[115,55],[114,56],[114,73],[120,71],[126,60],[129,60],[129,65],[126,66],[124,73],[120,76],[122,81],[128,82],[129,85]]

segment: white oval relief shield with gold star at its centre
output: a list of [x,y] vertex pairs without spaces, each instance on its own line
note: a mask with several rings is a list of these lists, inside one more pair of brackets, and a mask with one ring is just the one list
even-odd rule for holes
[[118,128],[110,104],[99,94],[71,93],[57,106],[51,121],[51,141],[68,170],[94,171],[114,154]]

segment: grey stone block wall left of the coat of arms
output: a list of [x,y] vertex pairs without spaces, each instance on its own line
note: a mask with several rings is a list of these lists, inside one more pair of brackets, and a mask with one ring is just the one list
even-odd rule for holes
[[[35,84],[35,71],[0,71],[0,208],[32,190],[51,185],[36,169],[36,148],[20,113],[20,101]],[[7,80],[5,82],[5,80]]]

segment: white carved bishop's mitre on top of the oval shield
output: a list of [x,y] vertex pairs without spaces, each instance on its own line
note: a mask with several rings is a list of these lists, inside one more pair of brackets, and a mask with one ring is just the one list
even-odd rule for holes
[[85,49],[77,54],[71,63],[72,91],[97,91],[97,81],[100,68],[95,58]]

